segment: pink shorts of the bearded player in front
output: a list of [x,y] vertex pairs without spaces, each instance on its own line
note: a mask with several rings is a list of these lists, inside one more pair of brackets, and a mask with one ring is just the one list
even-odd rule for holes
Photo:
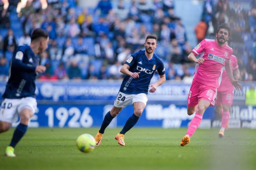
[[211,87],[200,82],[193,80],[192,85],[189,90],[189,96],[187,100],[187,105],[193,107],[198,104],[199,100],[208,100],[213,106],[217,95],[217,88]]

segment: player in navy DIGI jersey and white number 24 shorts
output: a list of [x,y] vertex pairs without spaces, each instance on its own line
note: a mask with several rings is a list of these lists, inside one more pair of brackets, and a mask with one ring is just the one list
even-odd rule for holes
[[[165,82],[165,69],[163,62],[156,54],[154,54],[157,47],[157,37],[147,36],[144,46],[145,50],[137,51],[132,54],[120,70],[121,73],[126,76],[121,84],[114,106],[109,112],[107,112],[100,130],[95,136],[97,146],[100,145],[104,131],[112,119],[116,117],[119,112],[126,107],[126,105],[132,102],[134,112],[126,121],[125,126],[120,133],[116,135],[118,143],[125,146],[124,135],[137,123],[141,116],[147,104],[147,93],[149,87],[151,87],[149,92],[154,93],[156,92],[157,86]],[[160,78],[156,83],[149,85],[156,70],[160,75]]]

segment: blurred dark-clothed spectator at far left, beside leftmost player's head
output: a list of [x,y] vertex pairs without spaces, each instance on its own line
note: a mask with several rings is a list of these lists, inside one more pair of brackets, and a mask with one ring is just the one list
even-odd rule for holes
[[7,36],[3,40],[3,55],[6,51],[13,52],[16,48],[16,40],[12,29],[8,29]]

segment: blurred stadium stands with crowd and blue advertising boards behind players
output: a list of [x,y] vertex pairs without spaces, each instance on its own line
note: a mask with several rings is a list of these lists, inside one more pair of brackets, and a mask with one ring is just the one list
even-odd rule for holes
[[[155,52],[164,61],[168,81],[149,95],[137,126],[187,126],[192,117],[186,114],[186,99],[194,73],[187,55],[203,38],[214,39],[223,22],[231,26],[229,44],[244,82],[243,92],[235,92],[231,127],[250,127],[256,119],[255,107],[244,105],[245,92],[256,80],[255,0],[5,0],[0,14],[1,94],[14,49],[29,44],[37,27],[50,35],[47,51],[40,54],[47,71],[38,75],[38,112],[31,127],[100,126],[121,84],[122,63],[144,49],[149,34],[158,37]],[[123,126],[132,111],[131,105],[125,108],[111,126]],[[220,126],[214,117],[214,107],[209,108],[202,126]]]

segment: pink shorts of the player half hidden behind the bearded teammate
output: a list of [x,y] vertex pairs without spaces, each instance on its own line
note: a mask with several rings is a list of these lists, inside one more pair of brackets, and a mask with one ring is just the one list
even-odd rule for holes
[[215,99],[216,105],[221,104],[227,104],[232,105],[233,104],[233,91],[229,92],[218,92],[217,97]]

